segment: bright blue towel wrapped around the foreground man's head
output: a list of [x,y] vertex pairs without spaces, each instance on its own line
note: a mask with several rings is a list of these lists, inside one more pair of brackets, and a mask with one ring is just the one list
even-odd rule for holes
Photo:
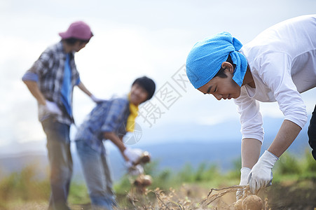
[[209,82],[221,69],[228,55],[236,65],[233,80],[242,85],[247,71],[247,59],[238,50],[242,43],[228,32],[222,32],[196,43],[186,58],[186,75],[197,89]]

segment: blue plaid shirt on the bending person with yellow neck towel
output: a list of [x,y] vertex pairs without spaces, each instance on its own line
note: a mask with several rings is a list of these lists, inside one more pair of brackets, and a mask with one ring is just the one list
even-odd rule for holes
[[115,132],[118,137],[123,137],[126,134],[125,125],[129,115],[127,96],[99,103],[78,127],[75,141],[86,141],[97,153],[105,153],[102,143],[104,132]]

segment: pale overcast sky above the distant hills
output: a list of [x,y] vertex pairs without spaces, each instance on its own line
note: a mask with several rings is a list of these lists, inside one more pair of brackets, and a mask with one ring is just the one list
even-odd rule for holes
[[[156,121],[138,119],[146,141],[155,143],[172,130],[177,132],[171,138],[181,138],[181,130],[176,127],[238,122],[232,100],[217,102],[180,80],[186,55],[195,42],[229,31],[247,43],[277,22],[315,12],[314,0],[1,0],[0,147],[14,142],[45,142],[37,120],[36,100],[21,77],[48,45],[60,41],[58,32],[65,31],[71,22],[83,20],[95,34],[76,53],[76,64],[81,80],[96,97],[126,94],[132,81],[143,75],[156,81],[157,90],[174,91],[169,100],[164,98],[164,103],[161,95],[153,100],[151,105],[156,104],[161,111]],[[303,94],[308,113],[314,109],[315,95],[316,90]],[[85,94],[75,90],[77,125],[93,106]],[[277,104],[261,106],[263,116],[282,117]],[[72,134],[76,132],[74,127],[71,130]],[[207,135],[199,133],[197,137],[207,139]]]

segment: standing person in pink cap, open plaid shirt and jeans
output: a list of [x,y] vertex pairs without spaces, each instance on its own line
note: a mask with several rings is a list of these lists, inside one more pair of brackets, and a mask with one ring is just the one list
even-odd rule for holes
[[48,47],[22,76],[38,103],[39,121],[47,137],[51,195],[48,209],[69,209],[67,197],[72,175],[69,129],[74,123],[72,94],[78,86],[94,102],[101,102],[81,82],[75,52],[85,48],[93,34],[82,21],[59,34],[62,40]]

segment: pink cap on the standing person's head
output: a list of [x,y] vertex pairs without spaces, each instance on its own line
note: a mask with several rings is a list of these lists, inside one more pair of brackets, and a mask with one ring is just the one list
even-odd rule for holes
[[93,36],[90,27],[83,21],[71,23],[67,31],[59,33],[60,36],[65,38],[78,38],[81,40],[90,40]]

